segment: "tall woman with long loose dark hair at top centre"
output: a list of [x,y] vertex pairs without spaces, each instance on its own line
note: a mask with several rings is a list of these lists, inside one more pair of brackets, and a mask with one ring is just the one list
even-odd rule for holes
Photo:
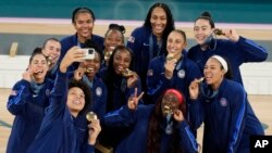
[[128,38],[126,46],[134,53],[134,69],[140,77],[143,91],[147,91],[149,61],[165,53],[168,35],[174,28],[169,7],[165,3],[154,3],[149,9],[144,25],[136,28]]

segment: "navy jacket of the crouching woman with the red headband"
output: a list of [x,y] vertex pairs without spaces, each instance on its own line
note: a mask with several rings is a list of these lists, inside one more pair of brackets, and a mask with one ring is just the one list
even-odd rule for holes
[[[108,126],[124,127],[133,126],[132,132],[123,139],[118,145],[115,153],[146,153],[147,138],[150,114],[154,105],[138,105],[135,112],[128,110],[126,105],[118,111],[106,115],[104,123]],[[198,144],[194,135],[189,130],[189,126],[184,120],[176,129],[180,136],[180,146],[185,153],[196,153]],[[173,135],[165,135],[162,131],[160,153],[168,153],[171,145]]]

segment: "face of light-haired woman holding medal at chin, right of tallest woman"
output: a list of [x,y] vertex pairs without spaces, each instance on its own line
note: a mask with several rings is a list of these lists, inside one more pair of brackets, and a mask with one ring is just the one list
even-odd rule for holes
[[178,59],[182,54],[182,51],[186,48],[186,40],[184,36],[173,30],[169,34],[166,50],[169,54],[172,54],[175,59]]

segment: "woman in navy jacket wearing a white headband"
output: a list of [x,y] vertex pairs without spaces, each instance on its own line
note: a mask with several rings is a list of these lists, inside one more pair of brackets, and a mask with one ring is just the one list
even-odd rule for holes
[[[230,64],[211,56],[203,69],[205,82],[189,86],[194,120],[205,124],[203,153],[248,153],[252,135],[264,135],[243,86],[230,80]],[[199,85],[200,82],[200,85]],[[200,91],[200,93],[199,93]],[[194,107],[194,109],[193,109]]]

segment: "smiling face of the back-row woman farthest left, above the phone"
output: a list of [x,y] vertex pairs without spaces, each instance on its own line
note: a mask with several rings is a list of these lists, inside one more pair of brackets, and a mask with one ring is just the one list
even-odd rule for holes
[[75,17],[74,27],[77,33],[78,40],[85,42],[86,39],[89,39],[94,29],[94,18],[87,13],[78,13]]

